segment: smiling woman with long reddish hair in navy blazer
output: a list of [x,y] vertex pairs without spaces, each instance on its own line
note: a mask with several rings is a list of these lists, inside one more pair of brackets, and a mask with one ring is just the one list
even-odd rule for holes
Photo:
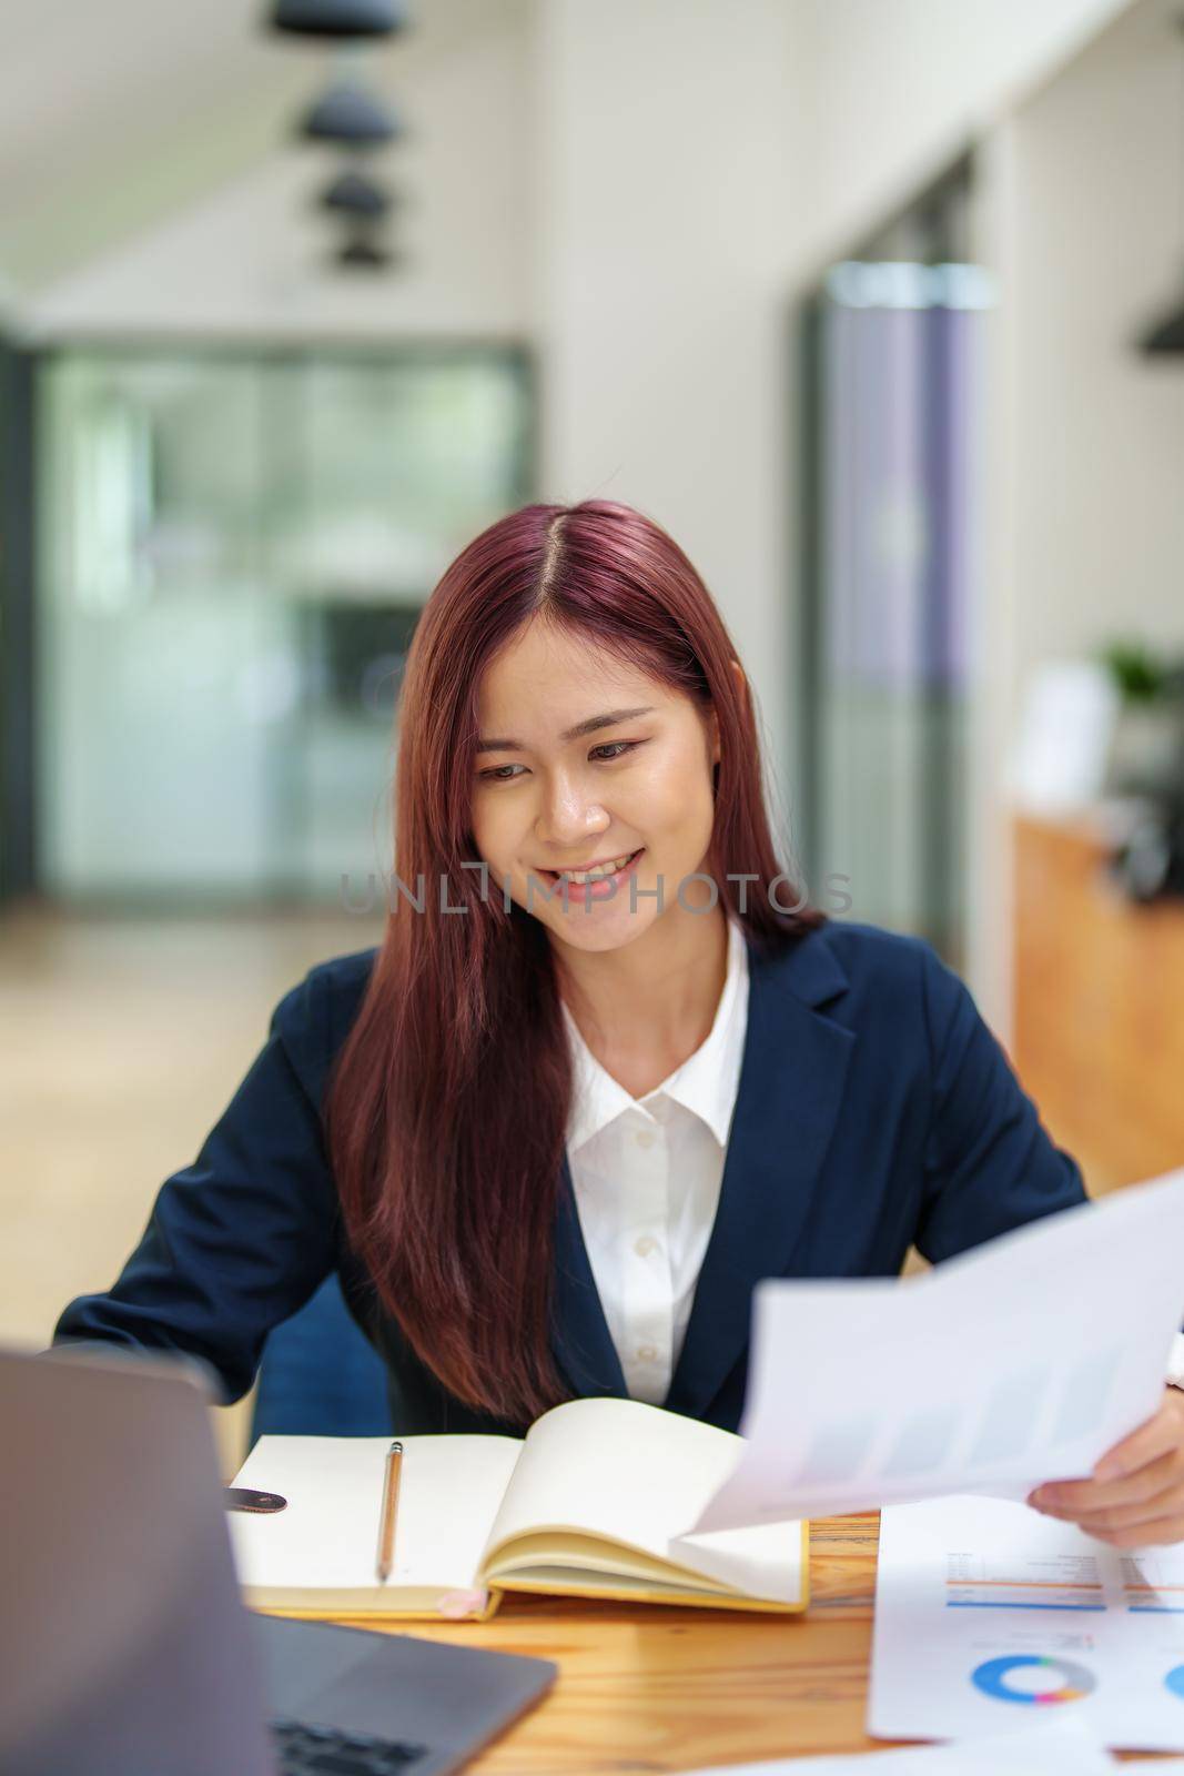
[[[382,947],[280,1000],[57,1339],[193,1353],[234,1399],[335,1268],[405,1433],[582,1394],[735,1430],[760,1277],[896,1275],[1085,1197],[935,954],[779,872],[744,671],[627,506],[527,506],[433,591],[396,870]],[[1184,1534],[1182,1405],[1042,1502]]]

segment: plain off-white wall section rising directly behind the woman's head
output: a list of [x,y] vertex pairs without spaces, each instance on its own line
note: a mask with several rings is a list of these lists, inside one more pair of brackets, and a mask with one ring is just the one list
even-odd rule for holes
[[[543,464],[689,552],[785,790],[785,286],[797,188],[783,0],[550,0],[540,39]],[[774,815],[777,806],[774,801]]]

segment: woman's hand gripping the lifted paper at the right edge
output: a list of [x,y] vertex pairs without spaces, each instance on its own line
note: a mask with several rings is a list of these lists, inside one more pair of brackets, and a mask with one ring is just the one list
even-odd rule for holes
[[1092,1479],[1049,1481],[1028,1494],[1028,1504],[1115,1549],[1182,1542],[1184,1392],[1164,1389],[1159,1412],[1108,1449]]

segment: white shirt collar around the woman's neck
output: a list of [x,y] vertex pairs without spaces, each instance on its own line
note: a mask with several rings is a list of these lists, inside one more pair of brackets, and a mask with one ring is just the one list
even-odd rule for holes
[[715,1007],[715,1019],[705,1043],[675,1073],[644,1098],[630,1098],[625,1087],[600,1066],[579,1032],[566,1005],[563,1018],[572,1041],[573,1092],[568,1117],[568,1149],[575,1153],[586,1140],[627,1110],[650,1110],[666,1094],[701,1117],[721,1147],[728,1146],[731,1112],[740,1085],[740,1060],[747,1028],[749,961],[744,929],[728,916],[728,977]]

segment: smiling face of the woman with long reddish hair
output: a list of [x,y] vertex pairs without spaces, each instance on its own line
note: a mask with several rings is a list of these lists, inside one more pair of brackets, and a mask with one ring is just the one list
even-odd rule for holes
[[[618,719],[602,725],[607,714]],[[577,726],[588,732],[573,733]],[[714,716],[705,719],[691,698],[536,618],[485,671],[478,733],[472,835],[493,874],[492,892],[508,884],[518,906],[582,950],[632,943],[671,909],[683,916],[678,884],[708,868]],[[549,874],[637,851],[616,892],[570,884],[564,895]],[[687,908],[708,900],[706,883],[683,890]]]

